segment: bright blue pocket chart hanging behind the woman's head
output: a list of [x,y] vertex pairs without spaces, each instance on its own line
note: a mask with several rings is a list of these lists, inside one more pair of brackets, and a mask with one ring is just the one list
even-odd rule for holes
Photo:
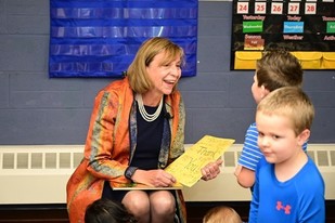
[[140,44],[167,37],[196,75],[197,0],[50,0],[49,77],[120,77]]

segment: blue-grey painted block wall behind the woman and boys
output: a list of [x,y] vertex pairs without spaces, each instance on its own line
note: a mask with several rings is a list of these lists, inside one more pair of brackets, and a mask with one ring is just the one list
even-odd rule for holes
[[[254,120],[253,70],[230,70],[231,1],[199,1],[196,77],[179,84],[185,143],[243,143]],[[95,93],[112,78],[49,79],[49,1],[0,0],[0,144],[83,144]],[[317,108],[310,143],[335,143],[335,73],[306,71]]]

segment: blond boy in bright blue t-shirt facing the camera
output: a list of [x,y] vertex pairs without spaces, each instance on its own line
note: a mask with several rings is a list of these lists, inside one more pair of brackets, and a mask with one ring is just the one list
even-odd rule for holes
[[304,152],[314,108],[299,88],[270,93],[256,112],[258,146],[249,223],[325,222],[324,182]]

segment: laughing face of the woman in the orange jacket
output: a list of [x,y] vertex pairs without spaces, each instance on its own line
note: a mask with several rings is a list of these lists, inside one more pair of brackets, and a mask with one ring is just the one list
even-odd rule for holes
[[181,77],[180,56],[176,56],[170,63],[164,63],[165,58],[165,52],[160,52],[146,67],[149,78],[154,86],[151,91],[158,94],[170,94]]

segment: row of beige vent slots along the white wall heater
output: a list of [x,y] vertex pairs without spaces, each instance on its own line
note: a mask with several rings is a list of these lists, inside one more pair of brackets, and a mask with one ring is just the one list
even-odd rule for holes
[[[223,155],[223,167],[234,168],[241,155],[241,145],[232,146]],[[82,158],[82,146],[60,146],[59,148],[46,146],[44,149],[0,146],[0,174],[7,170],[49,170],[75,169]],[[64,152],[65,150],[65,152]],[[335,167],[335,145],[310,145],[308,155],[318,167]],[[34,173],[34,171],[30,171]],[[20,173],[21,171],[11,171]]]

